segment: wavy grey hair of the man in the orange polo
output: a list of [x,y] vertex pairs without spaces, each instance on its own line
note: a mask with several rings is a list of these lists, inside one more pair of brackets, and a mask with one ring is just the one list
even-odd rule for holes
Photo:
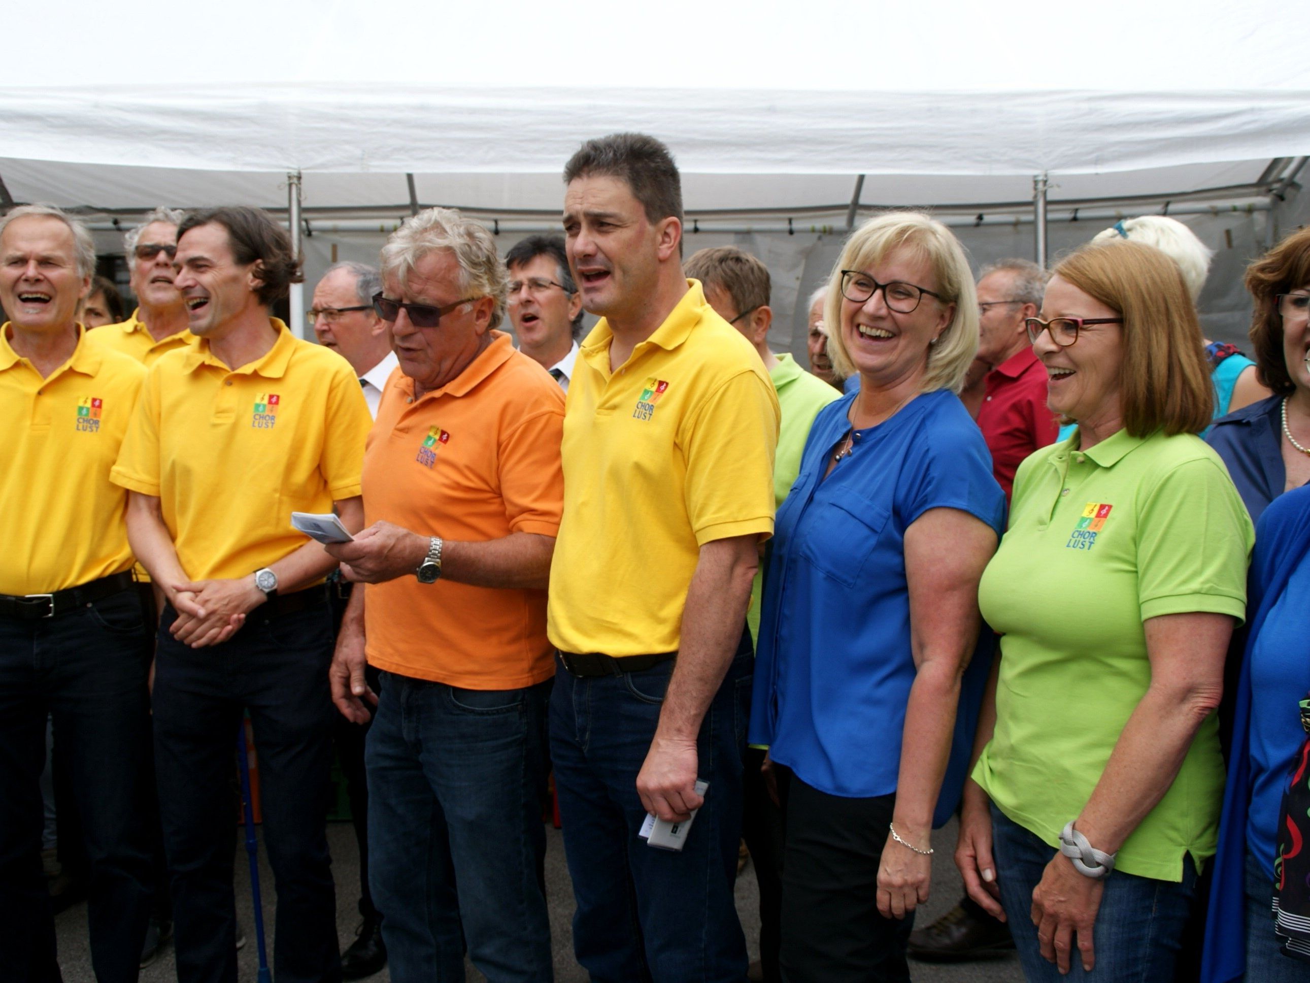
[[495,301],[489,326],[498,328],[504,318],[510,273],[491,233],[473,219],[464,218],[457,208],[424,208],[405,219],[405,224],[383,246],[383,277],[396,277],[403,287],[414,265],[439,249],[455,254],[460,265],[461,294]]

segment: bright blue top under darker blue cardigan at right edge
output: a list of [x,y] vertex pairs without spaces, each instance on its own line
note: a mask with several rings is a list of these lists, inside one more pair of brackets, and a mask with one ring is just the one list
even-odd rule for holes
[[1302,558],[1251,641],[1251,807],[1246,843],[1273,878],[1279,807],[1292,760],[1306,739],[1297,705],[1310,691],[1310,557]]

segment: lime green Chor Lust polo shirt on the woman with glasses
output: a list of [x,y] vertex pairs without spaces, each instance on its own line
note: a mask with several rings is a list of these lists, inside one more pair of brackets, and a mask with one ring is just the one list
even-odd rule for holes
[[[996,733],[973,779],[1010,819],[1058,845],[1150,684],[1142,623],[1246,611],[1251,520],[1218,456],[1192,435],[1077,434],[1031,455],[979,602],[1002,634]],[[1214,714],[1117,869],[1182,881],[1214,855],[1224,760]]]

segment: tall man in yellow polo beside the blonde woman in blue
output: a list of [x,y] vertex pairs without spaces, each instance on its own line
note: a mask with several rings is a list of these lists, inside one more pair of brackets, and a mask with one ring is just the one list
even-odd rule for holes
[[[574,950],[595,980],[739,983],[745,612],[773,532],[778,400],[683,277],[668,149],[588,140],[565,183],[569,262],[603,317],[569,388],[548,616]],[[681,823],[696,809],[680,853],[639,839],[647,813]]]

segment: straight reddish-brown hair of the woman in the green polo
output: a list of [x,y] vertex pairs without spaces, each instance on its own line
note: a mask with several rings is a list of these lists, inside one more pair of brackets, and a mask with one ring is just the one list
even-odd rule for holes
[[1178,263],[1141,242],[1091,242],[1053,274],[1124,318],[1124,427],[1199,434],[1214,413],[1214,384],[1192,295]]

